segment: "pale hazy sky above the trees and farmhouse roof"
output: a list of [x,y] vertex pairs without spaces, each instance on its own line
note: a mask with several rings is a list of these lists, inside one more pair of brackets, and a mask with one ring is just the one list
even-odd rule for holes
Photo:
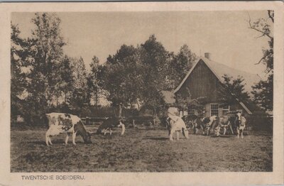
[[[89,63],[96,55],[105,62],[121,45],[140,45],[150,35],[166,50],[178,53],[187,44],[198,56],[211,53],[212,60],[264,77],[265,65],[254,65],[268,48],[268,39],[249,29],[252,21],[268,18],[266,11],[149,11],[149,12],[64,12],[62,35],[65,54],[82,56]],[[31,36],[34,13],[12,13],[23,38]]]

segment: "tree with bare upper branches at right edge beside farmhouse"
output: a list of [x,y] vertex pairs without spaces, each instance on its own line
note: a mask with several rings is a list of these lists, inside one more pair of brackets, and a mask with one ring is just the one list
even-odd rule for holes
[[256,63],[266,65],[267,80],[261,80],[253,86],[253,101],[263,109],[273,110],[273,23],[274,11],[268,10],[268,18],[258,18],[251,22],[249,18],[249,28],[261,33],[258,38],[268,38],[268,48],[263,50],[263,57]]

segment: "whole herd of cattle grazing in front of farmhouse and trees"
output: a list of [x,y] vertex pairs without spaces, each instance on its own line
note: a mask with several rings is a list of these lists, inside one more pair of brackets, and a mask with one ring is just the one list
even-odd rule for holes
[[[65,113],[50,113],[45,114],[45,123],[48,125],[48,131],[45,133],[45,143],[47,146],[52,145],[51,137],[57,136],[60,133],[65,133],[65,144],[68,143],[68,138],[72,135],[72,143],[76,145],[76,135],[82,136],[84,143],[92,143],[90,134],[84,128],[82,120],[75,115]],[[112,133],[114,127],[121,127],[121,135],[124,135],[125,124],[124,119],[119,117],[110,117],[104,120],[104,122],[97,129],[97,133]],[[244,138],[244,128],[246,126],[246,119],[241,116],[240,113],[233,114],[232,116],[211,116],[211,117],[199,117],[196,115],[187,115],[180,118],[174,114],[168,113],[166,119],[166,128],[170,141],[173,141],[173,134],[176,133],[177,139],[179,139],[179,132],[182,132],[185,138],[188,138],[188,129],[192,128],[194,133],[197,134],[199,130],[202,130],[204,135],[209,136],[210,133],[214,133],[219,136],[220,131],[230,129],[234,134],[236,131],[237,136],[241,134],[241,138]]]

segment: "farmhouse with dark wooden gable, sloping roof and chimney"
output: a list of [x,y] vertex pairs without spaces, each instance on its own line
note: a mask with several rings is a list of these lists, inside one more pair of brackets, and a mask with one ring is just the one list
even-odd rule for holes
[[[195,65],[187,72],[184,79],[173,92],[163,92],[165,102],[170,105],[170,109],[178,107],[177,102],[173,102],[173,97],[177,101],[180,99],[188,99],[190,92],[191,100],[199,101],[203,109],[205,109],[205,116],[223,116],[228,111],[239,110],[244,115],[251,115],[256,111],[257,106],[249,102],[241,102],[234,95],[229,95],[224,87],[224,75],[229,75],[233,78],[241,76],[244,78],[245,91],[251,92],[251,86],[261,80],[258,75],[253,75],[248,72],[236,70],[226,65],[220,64],[210,60],[210,54],[205,53],[204,58],[199,58]],[[229,102],[226,97],[231,97]],[[179,111],[179,115],[198,114],[198,104],[190,104],[186,111]],[[200,106],[199,105],[199,106]]]

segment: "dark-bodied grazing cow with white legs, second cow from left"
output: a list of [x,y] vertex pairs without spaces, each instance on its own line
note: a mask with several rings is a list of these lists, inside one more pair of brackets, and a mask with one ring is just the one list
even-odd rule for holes
[[121,126],[122,131],[121,131],[121,135],[124,135],[125,132],[125,125],[124,125],[124,121],[121,117],[110,117],[107,118],[102,125],[99,126],[99,128],[97,129],[97,133],[104,133],[104,135],[106,135],[107,131],[109,131],[109,134],[111,135],[112,131],[111,129],[114,127],[119,127]]

